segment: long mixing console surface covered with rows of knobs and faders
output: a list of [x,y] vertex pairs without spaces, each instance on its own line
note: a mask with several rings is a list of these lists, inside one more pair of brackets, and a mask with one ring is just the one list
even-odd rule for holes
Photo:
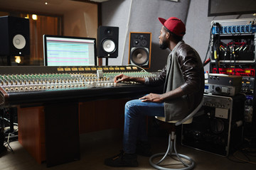
[[[116,75],[157,76],[157,73],[145,72],[136,66],[0,67],[0,72],[0,106],[7,103],[23,103],[26,100],[29,103],[34,100],[48,101],[47,95],[48,98],[65,98],[64,94],[69,95],[70,98],[80,98],[85,97],[85,94],[88,94],[87,97],[100,96],[100,91],[105,91],[105,95],[109,95],[110,92],[122,94],[127,91],[128,93],[129,89],[125,88],[127,86],[129,88],[136,86],[136,89],[145,89],[145,87],[135,82],[116,84],[114,83]],[[43,99],[38,99],[36,96],[40,98],[43,96]]]

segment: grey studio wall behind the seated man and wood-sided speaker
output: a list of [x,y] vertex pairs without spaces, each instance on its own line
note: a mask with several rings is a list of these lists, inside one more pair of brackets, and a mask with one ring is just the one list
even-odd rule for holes
[[[180,0],[110,0],[102,3],[102,25],[119,26],[119,57],[110,59],[110,65],[128,64],[129,32],[151,32],[152,53],[151,69],[161,69],[166,63],[168,50],[159,49],[158,17],[176,16],[186,24],[186,35],[183,40],[194,47],[202,61],[206,57],[210,39],[210,22],[213,20],[252,18],[252,15],[208,17],[208,1]],[[161,57],[161,60],[159,60]],[[208,71],[208,65],[205,67]]]

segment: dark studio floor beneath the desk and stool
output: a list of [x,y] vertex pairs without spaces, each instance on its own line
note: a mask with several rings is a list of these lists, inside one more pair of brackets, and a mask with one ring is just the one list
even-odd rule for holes
[[[154,153],[164,152],[166,150],[167,138],[164,136],[150,137],[152,150]],[[0,154],[0,169],[1,170],[76,170],[76,169],[90,169],[90,170],[129,170],[129,169],[154,169],[149,164],[149,157],[138,156],[139,167],[136,168],[112,168],[104,165],[104,159],[112,157],[114,154],[122,149],[122,132],[120,130],[105,130],[101,132],[92,132],[80,135],[80,156],[79,161],[70,162],[50,168],[46,164],[37,164],[28,152],[19,144],[14,141],[10,143],[14,152],[8,150]],[[178,151],[181,154],[186,154],[196,162],[195,169],[197,170],[213,170],[213,169],[256,169],[256,164],[238,163],[240,160],[235,157],[221,157],[216,154],[198,151],[196,149],[183,147],[178,145]],[[239,153],[238,153],[239,155]],[[242,159],[246,159],[240,154]],[[230,159],[233,159],[231,161]],[[250,159],[252,163],[256,162],[256,158]]]

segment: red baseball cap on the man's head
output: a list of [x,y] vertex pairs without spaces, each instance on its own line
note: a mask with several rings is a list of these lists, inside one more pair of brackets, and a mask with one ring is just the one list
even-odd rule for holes
[[159,18],[159,21],[163,26],[178,36],[183,37],[186,33],[186,26],[185,24],[176,17],[170,17],[169,19]]

